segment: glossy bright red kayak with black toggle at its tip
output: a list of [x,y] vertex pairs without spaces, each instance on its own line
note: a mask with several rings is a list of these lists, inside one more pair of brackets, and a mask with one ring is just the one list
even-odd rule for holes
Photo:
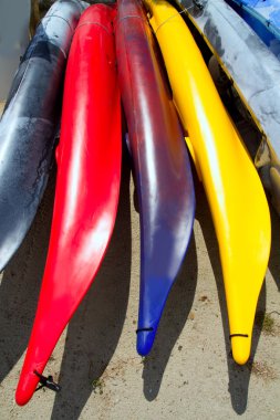
[[64,327],[104,258],[121,180],[121,101],[112,21],[115,8],[82,15],[70,51],[50,246],[15,400],[27,403]]

